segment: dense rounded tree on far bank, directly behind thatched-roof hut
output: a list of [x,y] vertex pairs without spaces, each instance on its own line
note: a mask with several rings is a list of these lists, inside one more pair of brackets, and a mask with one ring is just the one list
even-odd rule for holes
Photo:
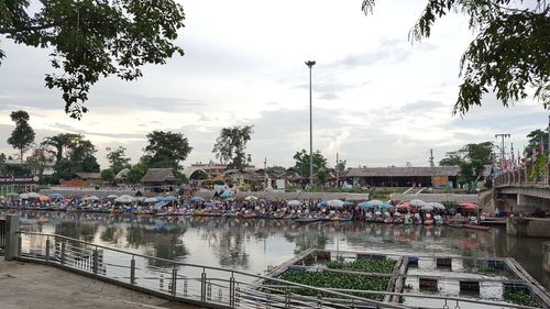
[[182,133],[153,131],[147,134],[148,145],[142,156],[148,167],[169,167],[179,169],[179,163],[185,161],[193,147]]

